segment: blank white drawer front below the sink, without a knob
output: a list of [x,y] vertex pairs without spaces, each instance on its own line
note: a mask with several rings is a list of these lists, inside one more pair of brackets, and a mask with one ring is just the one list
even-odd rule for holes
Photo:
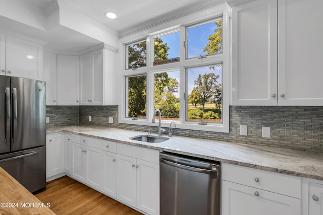
[[117,145],[117,153],[159,164],[159,151],[126,144]]

